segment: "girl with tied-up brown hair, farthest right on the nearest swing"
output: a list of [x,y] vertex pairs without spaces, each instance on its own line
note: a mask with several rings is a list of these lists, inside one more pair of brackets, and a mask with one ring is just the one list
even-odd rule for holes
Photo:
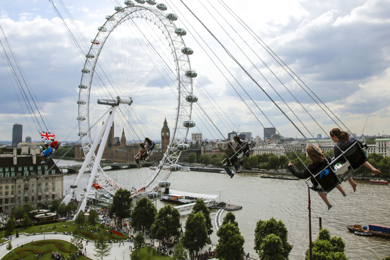
[[[333,128],[329,134],[331,136],[331,140],[336,142],[333,147],[334,158],[339,157],[341,155],[341,151],[347,150],[350,147],[350,144],[356,140],[356,138],[350,136],[349,133],[341,131],[339,128]],[[367,155],[368,153],[366,152],[366,156]],[[375,167],[372,166],[370,162],[366,161],[363,165],[369,168],[373,173],[381,174],[381,172],[375,169]],[[355,192],[357,183],[353,181],[352,177],[348,179],[348,181],[353,188],[353,192]]]

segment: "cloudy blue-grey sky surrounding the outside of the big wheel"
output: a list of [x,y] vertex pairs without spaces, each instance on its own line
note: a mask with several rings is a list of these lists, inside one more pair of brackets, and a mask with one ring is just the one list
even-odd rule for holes
[[[118,3],[81,2],[63,0],[82,34],[94,39],[98,26],[106,21],[106,15],[115,13]],[[225,5],[219,0],[185,2],[252,77],[180,0],[165,1],[169,8],[166,13],[176,13],[176,26],[188,32],[184,40],[194,49],[191,67],[198,74],[194,94],[207,114],[202,115],[195,105],[197,127],[190,133],[202,132],[212,139],[239,130],[262,137],[263,125],[274,125],[286,137],[301,137],[298,131],[311,137],[325,136],[339,125],[360,135],[369,116],[365,135],[389,134],[390,0],[224,0]],[[54,3],[72,28],[60,2]],[[35,93],[47,128],[59,140],[77,140],[77,86],[85,57],[69,39],[49,1],[5,0],[0,7],[0,25]],[[85,41],[79,44],[90,46]],[[285,63],[283,67],[270,56],[272,52],[265,44]],[[23,140],[27,135],[38,139],[39,126],[31,120],[9,71],[1,61],[0,140],[11,140],[14,123],[23,124]],[[168,125],[174,125],[174,118],[166,116]],[[161,117],[159,127],[164,120]]]

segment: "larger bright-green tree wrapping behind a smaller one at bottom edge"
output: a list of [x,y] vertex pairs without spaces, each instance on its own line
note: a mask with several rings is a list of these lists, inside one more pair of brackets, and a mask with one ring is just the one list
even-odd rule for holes
[[282,255],[285,259],[288,259],[292,250],[292,245],[287,241],[289,232],[281,220],[276,221],[274,218],[257,221],[256,228],[254,229],[254,250],[256,250],[256,253],[260,256],[262,253],[261,245],[265,238],[271,234],[280,238],[283,246]]

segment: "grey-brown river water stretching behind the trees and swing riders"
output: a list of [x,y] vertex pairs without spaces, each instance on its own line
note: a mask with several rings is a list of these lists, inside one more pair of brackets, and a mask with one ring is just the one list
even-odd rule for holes
[[[76,161],[60,161],[58,165],[80,164]],[[136,171],[147,173],[148,169],[123,169],[109,171],[108,175],[117,180],[134,176]],[[64,191],[69,189],[76,175],[64,176]],[[82,176],[76,194],[84,193],[89,173]],[[275,218],[282,220],[289,231],[289,243],[293,245],[291,260],[305,258],[309,245],[308,189],[303,180],[274,180],[260,178],[260,174],[239,174],[230,179],[225,174],[207,172],[173,172],[169,177],[174,190],[195,193],[221,195],[220,200],[242,206],[234,211],[236,221],[245,239],[244,250],[256,256],[254,247],[254,228],[258,220]],[[372,185],[369,181],[356,180],[357,190],[353,193],[349,183],[342,186],[348,196],[343,197],[338,191],[328,194],[333,205],[331,210],[320,197],[311,192],[312,199],[312,240],[318,234],[319,217],[323,228],[329,229],[331,236],[341,237],[346,243],[345,254],[351,260],[381,260],[390,256],[390,240],[377,237],[361,237],[349,232],[347,225],[379,224],[390,226],[390,187]],[[78,197],[78,199],[81,197]],[[218,200],[219,198],[217,198]],[[157,208],[165,202],[157,201]],[[212,209],[214,223],[217,210]],[[181,218],[185,225],[186,217]],[[212,241],[218,238],[215,232]]]

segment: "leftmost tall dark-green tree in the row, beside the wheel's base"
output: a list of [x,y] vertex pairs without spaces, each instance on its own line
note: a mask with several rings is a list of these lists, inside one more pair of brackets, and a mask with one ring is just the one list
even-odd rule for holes
[[122,227],[122,220],[130,218],[133,198],[131,191],[125,189],[118,189],[113,197],[113,203],[108,210],[108,215],[112,218],[114,215],[119,219],[120,227]]

